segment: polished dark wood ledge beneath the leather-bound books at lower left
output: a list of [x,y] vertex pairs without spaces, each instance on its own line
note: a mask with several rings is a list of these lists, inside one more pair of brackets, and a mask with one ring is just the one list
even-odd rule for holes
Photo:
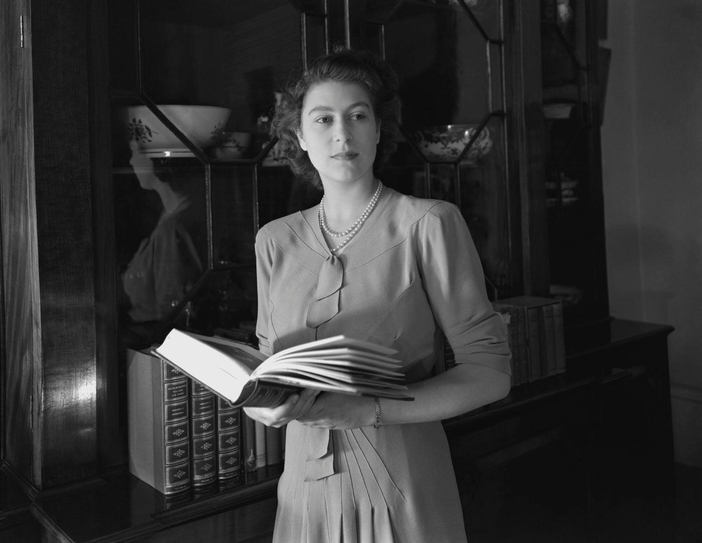
[[[65,492],[48,492],[34,514],[75,543],[94,541],[244,541],[272,533],[277,467],[243,486],[164,496],[124,470]],[[80,511],[77,515],[76,511]]]

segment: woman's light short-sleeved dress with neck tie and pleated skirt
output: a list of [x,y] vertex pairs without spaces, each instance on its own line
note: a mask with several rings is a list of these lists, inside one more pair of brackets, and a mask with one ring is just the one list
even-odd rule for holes
[[[266,354],[345,334],[397,349],[408,382],[417,382],[435,370],[445,333],[458,363],[510,372],[501,320],[451,203],[385,187],[337,255],[315,207],[260,229],[256,257]],[[441,422],[332,431],[291,422],[274,541],[465,541]]]

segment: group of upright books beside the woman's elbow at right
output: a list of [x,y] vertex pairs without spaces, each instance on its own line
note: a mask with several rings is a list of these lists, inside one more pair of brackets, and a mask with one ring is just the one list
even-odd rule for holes
[[496,300],[493,307],[507,325],[513,386],[566,370],[562,300],[517,296]]

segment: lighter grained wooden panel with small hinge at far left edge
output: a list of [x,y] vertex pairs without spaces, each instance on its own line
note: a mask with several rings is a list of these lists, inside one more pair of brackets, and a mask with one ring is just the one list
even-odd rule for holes
[[[25,47],[20,48],[20,15],[25,20]],[[0,4],[0,214],[4,289],[4,349],[1,391],[3,451],[19,474],[32,474],[32,361],[39,349],[34,327],[38,285],[37,234],[34,229],[31,119],[31,46],[28,10],[22,1]]]

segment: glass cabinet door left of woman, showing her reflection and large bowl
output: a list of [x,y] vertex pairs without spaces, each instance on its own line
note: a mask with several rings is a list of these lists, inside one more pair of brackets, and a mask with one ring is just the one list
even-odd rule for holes
[[253,340],[261,224],[319,196],[268,135],[327,51],[324,0],[110,0],[119,344],[174,326]]

